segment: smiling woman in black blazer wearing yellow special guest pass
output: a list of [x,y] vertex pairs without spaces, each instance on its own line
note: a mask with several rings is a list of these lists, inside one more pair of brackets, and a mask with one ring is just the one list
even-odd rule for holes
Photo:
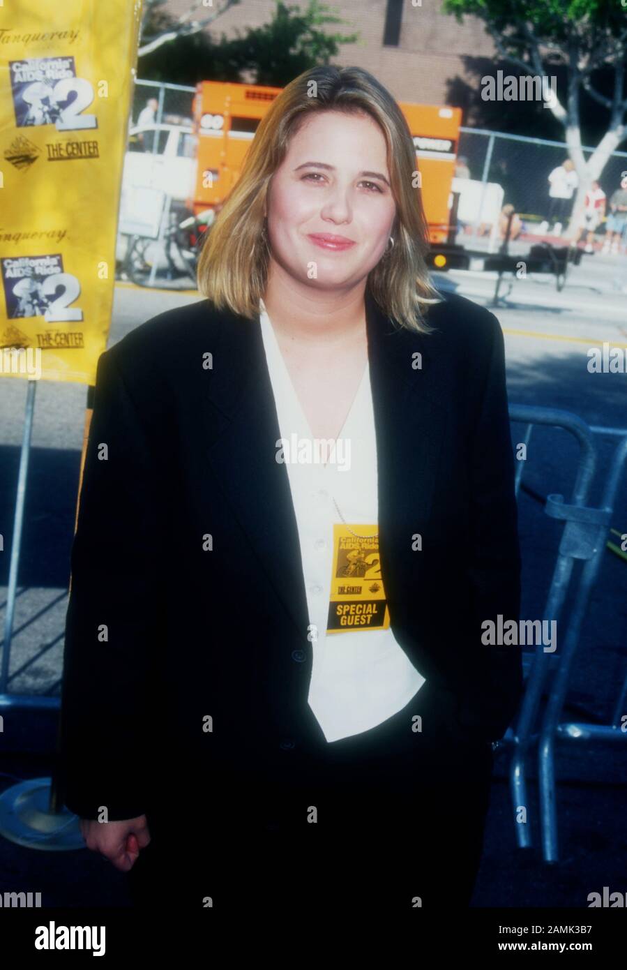
[[521,686],[483,641],[517,621],[514,461],[500,327],[429,283],[415,169],[378,81],[306,72],[206,299],[100,358],[63,765],[138,903],[469,903]]

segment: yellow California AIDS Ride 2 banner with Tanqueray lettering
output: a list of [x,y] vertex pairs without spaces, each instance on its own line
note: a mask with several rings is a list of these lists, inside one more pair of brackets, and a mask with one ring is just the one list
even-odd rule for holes
[[95,382],[140,19],[141,0],[0,0],[2,376]]

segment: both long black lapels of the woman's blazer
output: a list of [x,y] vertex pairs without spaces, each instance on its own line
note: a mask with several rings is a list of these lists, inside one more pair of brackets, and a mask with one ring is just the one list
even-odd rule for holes
[[[390,598],[386,577],[393,575],[395,543],[409,543],[428,519],[446,408],[430,386],[430,338],[394,327],[367,293],[365,305],[380,555]],[[309,618],[298,526],[287,467],[275,460],[280,429],[259,314],[254,320],[222,316],[212,386],[202,406],[209,436],[206,456],[260,568],[306,641]],[[412,366],[417,350],[423,357],[422,370]]]

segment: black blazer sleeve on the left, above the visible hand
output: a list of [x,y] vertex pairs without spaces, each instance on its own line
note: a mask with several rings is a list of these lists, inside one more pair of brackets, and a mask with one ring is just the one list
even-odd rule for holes
[[147,675],[162,597],[155,446],[113,350],[98,361],[72,546],[59,766],[71,811],[95,819],[106,806],[118,821],[144,814]]

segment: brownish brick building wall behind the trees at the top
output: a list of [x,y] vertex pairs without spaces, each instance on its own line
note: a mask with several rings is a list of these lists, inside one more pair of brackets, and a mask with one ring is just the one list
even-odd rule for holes
[[[298,5],[287,0],[288,6]],[[423,0],[422,7],[414,7],[411,0],[402,0],[399,43],[395,47],[383,44],[388,4],[397,0],[328,0],[337,16],[349,21],[330,24],[329,32],[359,32],[356,44],[342,45],[333,62],[366,68],[386,85],[397,101],[423,104],[447,104],[447,81],[455,78],[473,88],[478,81],[469,75],[463,56],[493,58],[494,46],[481,20],[465,17],[462,24],[455,17],[441,13],[441,0]],[[215,0],[216,8],[220,0]],[[191,0],[168,0],[164,11],[180,16],[190,9]],[[303,9],[307,4],[302,0]],[[241,3],[215,21],[208,29],[214,36],[225,33],[234,36],[235,30],[259,27],[271,19],[275,9],[273,0],[241,0]],[[196,13],[200,19],[207,8]],[[455,101],[455,99],[454,99]]]

